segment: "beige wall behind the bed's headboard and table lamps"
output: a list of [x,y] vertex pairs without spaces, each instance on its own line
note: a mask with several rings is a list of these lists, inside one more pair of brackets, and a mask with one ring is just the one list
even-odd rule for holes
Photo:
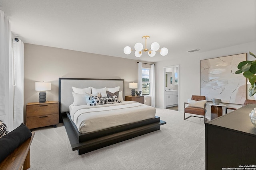
[[131,94],[129,82],[138,81],[138,64],[133,59],[24,44],[25,106],[38,102],[35,82],[51,82],[46,100],[58,101],[59,77],[124,79],[124,95],[127,96]]

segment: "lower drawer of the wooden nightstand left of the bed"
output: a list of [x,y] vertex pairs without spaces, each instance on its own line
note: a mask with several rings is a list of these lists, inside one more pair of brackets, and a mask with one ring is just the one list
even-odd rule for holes
[[27,127],[28,127],[28,129],[33,129],[33,128],[37,128],[37,127],[56,125],[56,124],[58,124],[58,121],[59,121],[58,114],[28,117],[27,118]]

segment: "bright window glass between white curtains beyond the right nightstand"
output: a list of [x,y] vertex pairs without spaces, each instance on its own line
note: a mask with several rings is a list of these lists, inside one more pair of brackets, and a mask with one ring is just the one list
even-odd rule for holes
[[142,95],[150,95],[150,68],[142,68]]

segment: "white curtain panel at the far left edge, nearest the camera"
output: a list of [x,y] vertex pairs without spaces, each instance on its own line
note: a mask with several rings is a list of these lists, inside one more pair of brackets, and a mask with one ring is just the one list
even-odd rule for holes
[[0,10],[0,119],[12,130],[11,31],[8,17]]

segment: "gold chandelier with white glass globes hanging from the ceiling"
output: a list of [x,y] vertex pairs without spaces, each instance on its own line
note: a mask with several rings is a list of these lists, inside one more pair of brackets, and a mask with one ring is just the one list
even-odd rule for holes
[[[141,57],[143,51],[148,52],[149,57],[154,57],[156,55],[156,51],[159,51],[160,55],[162,55],[162,56],[166,56],[168,54],[168,49],[165,47],[163,47],[159,50],[160,45],[157,42],[152,43],[150,46],[150,49],[147,49],[147,39],[149,38],[149,36],[145,35],[142,38],[145,38],[145,49],[143,49],[142,43],[136,43],[134,45],[134,49],[135,49],[134,55],[136,57]],[[125,54],[128,55],[128,54],[132,53],[132,51],[134,51],[134,50],[132,50],[131,47],[129,47],[129,46],[124,47]]]

